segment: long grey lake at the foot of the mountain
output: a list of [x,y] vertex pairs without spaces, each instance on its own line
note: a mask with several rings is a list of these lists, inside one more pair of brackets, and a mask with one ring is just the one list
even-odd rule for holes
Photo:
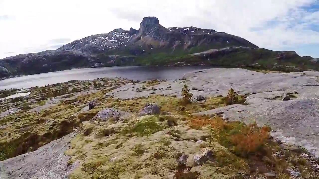
[[211,67],[107,67],[70,69],[1,80],[0,90],[30,88],[33,86],[67,82],[70,80],[93,80],[96,78],[115,76],[141,81],[150,79],[176,79],[181,78],[182,75],[187,72],[207,68]]

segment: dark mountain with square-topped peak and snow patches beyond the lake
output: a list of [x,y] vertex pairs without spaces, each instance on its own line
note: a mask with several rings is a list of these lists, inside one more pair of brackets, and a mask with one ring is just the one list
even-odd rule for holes
[[192,26],[166,28],[158,18],[145,17],[138,30],[118,28],[74,40],[57,50],[1,59],[0,77],[117,65],[289,66],[288,71],[298,71],[318,63],[295,52],[262,49],[224,32]]

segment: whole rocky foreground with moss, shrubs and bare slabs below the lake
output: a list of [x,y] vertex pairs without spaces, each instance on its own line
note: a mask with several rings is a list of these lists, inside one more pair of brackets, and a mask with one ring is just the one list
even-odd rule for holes
[[212,68],[30,88],[0,104],[0,178],[319,178],[318,86],[319,72]]

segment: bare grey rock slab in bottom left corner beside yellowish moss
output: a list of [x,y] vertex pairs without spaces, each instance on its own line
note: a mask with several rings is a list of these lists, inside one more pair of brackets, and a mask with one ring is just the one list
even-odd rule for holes
[[63,155],[75,136],[72,132],[44,145],[34,152],[0,161],[1,179],[67,179],[78,163],[68,165],[70,156]]

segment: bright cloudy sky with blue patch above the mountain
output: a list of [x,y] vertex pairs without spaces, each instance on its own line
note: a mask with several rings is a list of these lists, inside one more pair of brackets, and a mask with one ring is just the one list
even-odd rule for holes
[[0,58],[53,50],[115,28],[214,29],[258,47],[319,58],[319,0],[0,0]]

